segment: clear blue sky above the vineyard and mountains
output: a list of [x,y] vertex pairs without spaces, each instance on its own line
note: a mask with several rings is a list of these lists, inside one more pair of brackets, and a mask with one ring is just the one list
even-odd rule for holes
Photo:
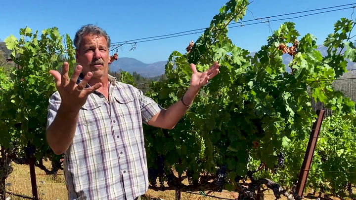
[[[213,16],[219,13],[221,6],[227,1],[115,0],[105,3],[98,0],[2,1],[0,39],[4,40],[10,34],[18,37],[19,29],[26,26],[40,31],[55,26],[59,28],[61,34],[69,33],[73,38],[82,25],[89,23],[105,29],[112,42],[177,33],[209,26]],[[351,3],[356,1],[254,0],[248,9],[258,18]],[[302,35],[312,33],[318,38],[318,44],[322,44],[327,34],[333,32],[333,24],[341,17],[351,18],[352,12],[353,9],[346,9],[288,21],[295,22],[297,30]],[[253,17],[247,12],[244,20],[250,19]],[[270,22],[270,27],[276,30],[281,23],[283,21]],[[131,57],[144,63],[165,61],[175,50],[184,52],[190,40],[195,41],[200,34],[137,43],[134,51],[129,51],[131,45],[125,45],[118,54],[119,57]],[[258,51],[266,44],[267,36],[270,34],[267,24],[264,23],[229,29],[229,36],[233,42],[249,51]]]

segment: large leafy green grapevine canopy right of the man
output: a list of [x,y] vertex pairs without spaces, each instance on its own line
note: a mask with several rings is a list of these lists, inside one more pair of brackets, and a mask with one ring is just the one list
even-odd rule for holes
[[[312,98],[354,122],[355,102],[334,91],[331,84],[346,71],[345,59],[356,56],[350,37],[337,33],[350,35],[355,23],[338,21],[335,33],[324,42],[329,49],[345,44],[345,54],[329,50],[322,57],[312,34],[301,36],[294,23],[285,22],[251,56],[232,43],[225,29],[229,22],[243,18],[247,5],[247,0],[227,2],[190,53],[171,54],[165,68],[167,79],[150,85],[147,95],[168,107],[189,87],[190,63],[200,71],[214,61],[221,64],[220,73],[201,90],[173,130],[144,126],[147,157],[151,161],[148,167],[160,170],[152,161],[164,157],[166,175],[161,180],[168,180],[174,168],[180,175],[190,174],[193,185],[201,174],[216,178],[217,168],[226,166],[229,182],[225,188],[235,190],[235,181],[265,163],[264,177],[273,175],[277,181],[282,177],[285,185],[293,185],[305,153],[305,148],[293,145],[307,142],[316,119]],[[296,39],[297,52],[289,64],[293,73],[287,73],[278,47],[281,43],[293,45]],[[287,170],[277,172],[283,176],[274,171],[280,152],[295,159]],[[260,177],[258,173],[256,176]],[[204,180],[200,182],[206,183]]]

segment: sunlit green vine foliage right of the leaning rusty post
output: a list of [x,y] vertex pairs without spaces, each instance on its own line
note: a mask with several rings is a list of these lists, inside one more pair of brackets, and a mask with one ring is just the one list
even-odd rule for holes
[[310,172],[311,187],[339,193],[348,183],[356,185],[355,131],[352,121],[339,115],[323,122]]

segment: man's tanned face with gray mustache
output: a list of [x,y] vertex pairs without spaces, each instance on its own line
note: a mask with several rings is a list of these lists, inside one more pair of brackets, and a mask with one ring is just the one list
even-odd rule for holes
[[85,35],[79,49],[76,50],[76,61],[83,66],[83,74],[89,71],[93,78],[101,78],[108,73],[110,55],[107,41],[103,36]]

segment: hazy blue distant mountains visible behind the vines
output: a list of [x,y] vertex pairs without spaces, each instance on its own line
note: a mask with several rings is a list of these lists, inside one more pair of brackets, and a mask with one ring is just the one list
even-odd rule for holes
[[[327,47],[323,45],[319,45],[317,50],[321,52],[322,56],[327,55]],[[250,55],[255,55],[255,53],[256,52],[251,52]],[[285,66],[288,66],[288,64],[292,61],[292,57],[288,54],[284,54],[282,58],[283,58],[283,64]],[[164,74],[166,64],[167,61],[160,61],[152,64],[146,64],[134,58],[125,57],[125,58],[119,58],[117,61],[114,61],[110,65],[110,70],[119,71],[121,69],[124,71],[128,71],[130,73],[135,71],[138,74],[141,74],[141,76],[143,77],[153,77],[153,76],[159,76]],[[348,69],[356,68],[356,63],[349,62],[347,68]],[[289,67],[286,67],[286,70],[288,72],[291,71]]]

